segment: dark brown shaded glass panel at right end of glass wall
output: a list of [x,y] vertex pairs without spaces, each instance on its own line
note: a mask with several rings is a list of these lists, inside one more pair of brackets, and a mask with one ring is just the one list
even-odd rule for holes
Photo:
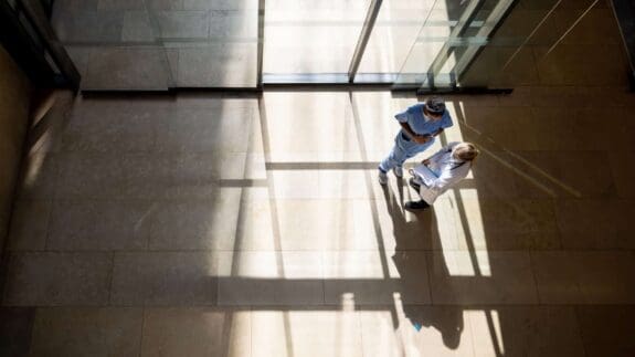
[[[555,54],[552,50],[565,44],[569,31],[576,28],[588,10],[599,6],[595,0],[514,2],[499,28],[487,36],[486,43],[463,49],[467,55],[476,56],[470,63],[464,63],[464,67],[455,70],[461,73],[459,85],[495,88],[536,85],[541,81],[558,82],[561,76],[567,76],[567,71],[562,67],[558,73],[550,73],[549,62],[554,57],[558,61],[557,55],[550,53]],[[495,18],[495,11],[484,11],[479,18]],[[467,62],[467,55],[464,62]],[[576,61],[569,59],[567,62],[574,65]]]

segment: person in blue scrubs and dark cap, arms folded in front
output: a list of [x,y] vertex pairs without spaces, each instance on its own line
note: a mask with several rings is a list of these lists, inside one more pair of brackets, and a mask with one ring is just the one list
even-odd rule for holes
[[394,138],[394,147],[389,156],[379,165],[379,182],[388,182],[388,171],[391,169],[398,178],[403,177],[403,162],[424,151],[434,144],[434,138],[443,129],[453,125],[445,102],[437,96],[409,107],[394,118],[401,125],[401,130]]

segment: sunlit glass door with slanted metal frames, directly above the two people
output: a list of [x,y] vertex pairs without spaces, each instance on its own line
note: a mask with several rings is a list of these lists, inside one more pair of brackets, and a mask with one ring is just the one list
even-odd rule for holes
[[515,0],[387,0],[356,83],[455,87]]

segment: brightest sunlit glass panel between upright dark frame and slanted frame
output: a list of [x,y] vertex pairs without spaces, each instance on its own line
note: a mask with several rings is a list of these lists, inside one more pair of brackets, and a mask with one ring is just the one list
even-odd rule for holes
[[370,0],[268,0],[265,82],[346,82]]

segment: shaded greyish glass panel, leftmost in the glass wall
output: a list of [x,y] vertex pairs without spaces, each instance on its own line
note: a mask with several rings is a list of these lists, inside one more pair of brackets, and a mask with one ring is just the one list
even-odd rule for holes
[[54,2],[84,90],[255,87],[257,0]]

